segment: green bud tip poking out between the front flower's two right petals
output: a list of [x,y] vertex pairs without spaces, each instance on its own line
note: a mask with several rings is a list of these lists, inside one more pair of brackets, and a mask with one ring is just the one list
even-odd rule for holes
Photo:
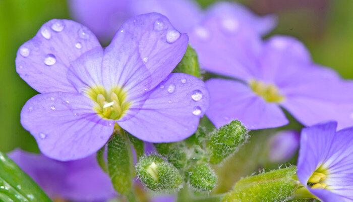
[[197,54],[194,48],[192,48],[190,45],[188,45],[182,61],[180,61],[180,63],[174,69],[174,72],[186,73],[195,77],[201,76]]

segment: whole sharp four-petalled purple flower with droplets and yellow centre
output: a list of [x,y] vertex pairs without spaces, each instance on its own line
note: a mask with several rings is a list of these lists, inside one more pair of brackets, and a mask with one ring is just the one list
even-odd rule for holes
[[41,93],[21,123],[44,155],[62,161],[95,153],[114,124],[149,142],[182,140],[209,102],[201,80],[170,73],[187,45],[187,34],[157,13],[128,20],[106,48],[86,27],[51,20],[17,54],[17,72]]

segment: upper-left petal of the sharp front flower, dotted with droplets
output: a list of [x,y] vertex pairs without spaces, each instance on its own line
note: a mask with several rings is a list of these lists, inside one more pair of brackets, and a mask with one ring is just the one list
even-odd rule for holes
[[18,50],[16,71],[40,93],[75,92],[66,78],[70,62],[100,47],[86,27],[71,20],[50,20]]

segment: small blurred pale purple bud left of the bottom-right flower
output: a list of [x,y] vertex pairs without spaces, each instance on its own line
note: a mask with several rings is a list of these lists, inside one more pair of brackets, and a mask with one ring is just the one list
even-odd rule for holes
[[295,130],[284,130],[273,135],[269,140],[269,160],[276,163],[288,161],[299,148],[299,137]]

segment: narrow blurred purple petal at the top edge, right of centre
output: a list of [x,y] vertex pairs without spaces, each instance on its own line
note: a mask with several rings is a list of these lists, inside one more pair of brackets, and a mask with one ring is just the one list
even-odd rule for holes
[[270,32],[277,25],[276,16],[257,16],[248,8],[238,3],[215,3],[208,10],[207,15],[214,15],[222,19],[238,19],[250,25],[260,35]]

